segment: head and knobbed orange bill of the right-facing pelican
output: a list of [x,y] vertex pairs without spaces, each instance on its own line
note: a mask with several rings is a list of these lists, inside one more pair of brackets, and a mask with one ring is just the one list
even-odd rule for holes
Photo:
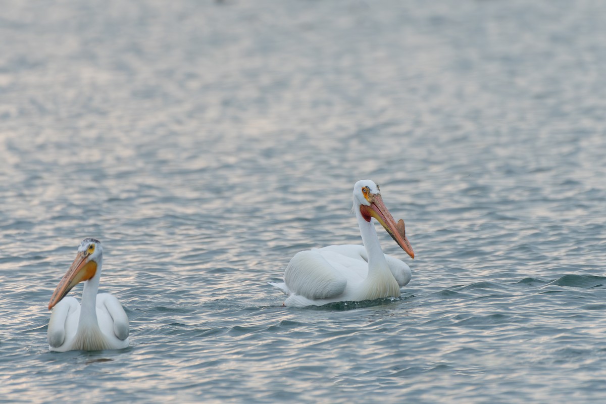
[[406,237],[404,220],[400,219],[396,225],[391,213],[383,204],[379,185],[369,179],[356,182],[356,185],[353,186],[353,208],[359,208],[362,218],[367,222],[370,222],[371,217],[374,217],[402,250],[411,258],[415,258],[415,252],[410,247],[410,242]]

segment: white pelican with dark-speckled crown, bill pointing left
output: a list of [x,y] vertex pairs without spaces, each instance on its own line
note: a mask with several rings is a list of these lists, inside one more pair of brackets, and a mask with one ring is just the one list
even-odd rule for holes
[[[100,351],[128,346],[128,317],[122,305],[109,293],[97,294],[102,259],[99,240],[82,240],[76,259],[48,303],[48,310],[54,307],[48,322],[51,351]],[[80,282],[84,282],[82,305],[75,297],[65,297]]]

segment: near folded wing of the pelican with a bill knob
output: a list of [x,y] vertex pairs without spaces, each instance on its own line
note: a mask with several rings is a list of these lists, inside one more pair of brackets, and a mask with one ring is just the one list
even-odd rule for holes
[[290,293],[307,299],[328,299],[343,293],[347,279],[319,250],[307,250],[290,260],[284,271],[284,283]]

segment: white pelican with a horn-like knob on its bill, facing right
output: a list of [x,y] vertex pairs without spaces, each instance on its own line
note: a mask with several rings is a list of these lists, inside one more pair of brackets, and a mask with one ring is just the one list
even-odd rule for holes
[[400,296],[410,282],[410,268],[383,254],[373,225],[376,219],[411,258],[404,220],[398,224],[383,204],[379,186],[360,180],[353,186],[353,211],[362,235],[361,245],[330,245],[295,254],[284,270],[284,283],[272,283],[288,297],[285,306],[324,305],[330,302],[374,300]]

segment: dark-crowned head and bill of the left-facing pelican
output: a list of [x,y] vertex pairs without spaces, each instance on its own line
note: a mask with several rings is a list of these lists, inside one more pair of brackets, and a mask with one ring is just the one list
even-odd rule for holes
[[78,283],[91,279],[97,273],[98,263],[101,263],[103,248],[101,242],[96,239],[87,238],[82,240],[78,247],[76,259],[72,262],[70,269],[59,281],[59,285],[48,303],[48,310],[52,309],[65,297],[67,293]]

